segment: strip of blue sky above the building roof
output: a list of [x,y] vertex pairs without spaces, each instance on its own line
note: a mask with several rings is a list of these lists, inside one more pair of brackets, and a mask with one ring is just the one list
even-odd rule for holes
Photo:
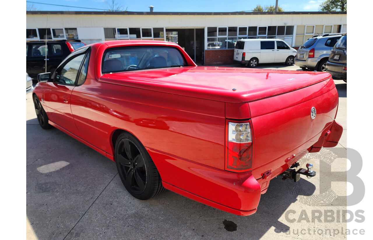
[[[97,9],[107,9],[107,4],[105,0],[31,0],[37,3],[51,3],[57,5],[66,6],[76,6],[76,7],[90,7]],[[108,0],[111,2],[112,0]],[[120,1],[122,6],[128,7],[128,11],[131,12],[148,12],[149,7],[154,6],[154,12],[237,12],[237,11],[250,11],[257,4],[264,5],[275,5],[276,0],[236,0],[236,1],[226,1],[226,0],[137,0],[137,1]],[[279,0],[278,4],[285,10],[291,10],[296,12],[314,12],[318,11],[320,3],[322,0]],[[63,6],[52,6],[34,3],[34,7],[41,11],[94,11],[90,9],[81,9],[75,7],[63,7]],[[26,5],[31,5],[26,1]],[[97,10],[100,11],[100,10]]]

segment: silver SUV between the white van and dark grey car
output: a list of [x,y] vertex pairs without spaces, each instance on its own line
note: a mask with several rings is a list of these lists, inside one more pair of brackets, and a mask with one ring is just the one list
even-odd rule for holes
[[329,58],[330,51],[341,38],[342,33],[325,34],[323,36],[313,36],[305,41],[298,49],[295,56],[295,65],[303,71],[325,72],[325,65]]

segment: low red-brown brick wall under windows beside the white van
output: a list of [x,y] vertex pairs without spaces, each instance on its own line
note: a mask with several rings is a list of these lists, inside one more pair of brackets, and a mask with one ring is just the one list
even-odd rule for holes
[[205,50],[205,65],[236,64],[233,61],[234,49]]

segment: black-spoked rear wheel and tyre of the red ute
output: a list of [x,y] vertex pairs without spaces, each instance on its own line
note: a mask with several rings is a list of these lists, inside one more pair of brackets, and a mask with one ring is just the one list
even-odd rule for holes
[[147,200],[165,190],[150,155],[140,141],[127,132],[120,134],[116,141],[115,163],[120,180],[135,198]]

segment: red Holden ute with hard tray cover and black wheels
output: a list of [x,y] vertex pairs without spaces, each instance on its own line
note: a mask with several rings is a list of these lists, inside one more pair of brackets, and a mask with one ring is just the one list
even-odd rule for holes
[[143,200],[169,189],[254,214],[271,179],[315,176],[311,164],[295,170],[297,161],[342,134],[330,74],[198,67],[172,42],[90,44],[38,81],[40,126],[115,161]]

